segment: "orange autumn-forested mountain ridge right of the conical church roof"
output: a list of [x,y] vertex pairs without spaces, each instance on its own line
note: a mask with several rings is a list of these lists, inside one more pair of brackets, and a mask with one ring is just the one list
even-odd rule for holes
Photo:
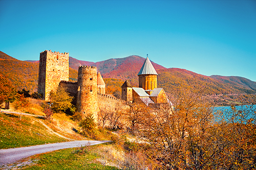
[[[256,92],[254,88],[248,86],[231,84],[231,82],[225,83],[211,76],[196,74],[195,72],[181,68],[161,69],[158,70],[158,74],[158,85],[159,87],[163,87],[167,92],[176,88],[181,83],[191,87],[201,84],[207,88],[209,93],[211,92],[213,94],[251,94]],[[256,82],[250,81],[250,83],[251,86],[256,86]]]

